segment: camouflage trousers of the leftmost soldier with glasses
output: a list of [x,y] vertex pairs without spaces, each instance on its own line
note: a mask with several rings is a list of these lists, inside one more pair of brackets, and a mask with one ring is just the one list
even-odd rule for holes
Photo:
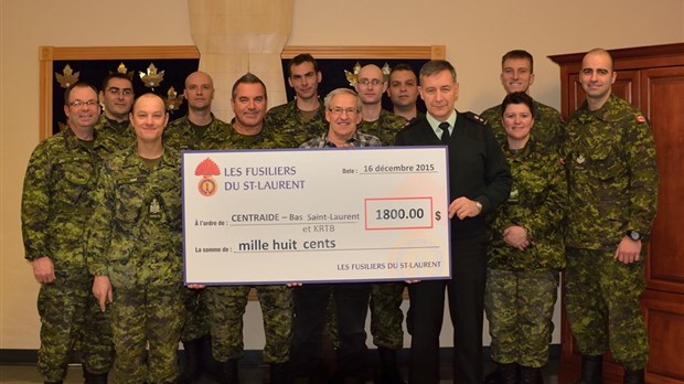
[[87,275],[65,276],[57,271],[54,282],[43,284],[38,297],[41,317],[41,346],[38,369],[47,382],[66,375],[73,351],[88,372],[105,373],[114,360],[111,327],[99,310]]

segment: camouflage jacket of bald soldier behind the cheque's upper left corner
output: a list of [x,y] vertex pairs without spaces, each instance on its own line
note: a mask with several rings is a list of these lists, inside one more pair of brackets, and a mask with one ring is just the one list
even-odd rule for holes
[[195,125],[188,116],[169,122],[164,130],[164,146],[179,151],[185,149],[223,149],[221,143],[228,135],[228,124],[212,115],[212,122],[202,136],[196,135]]

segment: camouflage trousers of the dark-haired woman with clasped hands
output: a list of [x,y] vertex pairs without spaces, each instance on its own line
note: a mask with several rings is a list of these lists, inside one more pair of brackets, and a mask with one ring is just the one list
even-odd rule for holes
[[488,268],[484,311],[493,361],[546,365],[557,292],[558,271]]

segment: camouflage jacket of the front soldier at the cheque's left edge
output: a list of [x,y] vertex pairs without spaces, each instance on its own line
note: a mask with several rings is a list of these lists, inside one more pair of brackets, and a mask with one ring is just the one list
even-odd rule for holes
[[164,148],[150,170],[136,146],[108,159],[94,193],[86,243],[93,275],[115,288],[182,284],[180,156]]

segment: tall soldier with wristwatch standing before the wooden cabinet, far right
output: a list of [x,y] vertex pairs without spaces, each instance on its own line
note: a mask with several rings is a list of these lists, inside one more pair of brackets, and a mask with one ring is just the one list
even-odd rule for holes
[[638,109],[612,95],[617,73],[605,50],[583,60],[587,100],[567,124],[565,309],[583,353],[580,383],[601,383],[609,348],[624,383],[643,383],[648,340],[639,296],[658,196],[653,134]]

